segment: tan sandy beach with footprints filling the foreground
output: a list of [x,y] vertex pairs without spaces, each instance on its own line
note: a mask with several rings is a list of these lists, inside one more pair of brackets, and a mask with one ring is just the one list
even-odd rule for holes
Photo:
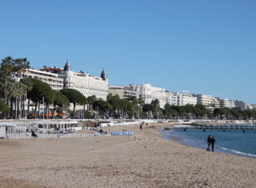
[[0,187],[256,187],[255,158],[165,140],[160,126],[102,128],[134,136],[0,140]]

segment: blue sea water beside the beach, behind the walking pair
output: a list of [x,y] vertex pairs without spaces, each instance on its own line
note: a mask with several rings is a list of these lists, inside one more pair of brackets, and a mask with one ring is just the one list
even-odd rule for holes
[[224,152],[256,158],[256,130],[203,130],[187,129],[162,131],[163,138],[206,150],[207,137],[215,136],[215,152]]

